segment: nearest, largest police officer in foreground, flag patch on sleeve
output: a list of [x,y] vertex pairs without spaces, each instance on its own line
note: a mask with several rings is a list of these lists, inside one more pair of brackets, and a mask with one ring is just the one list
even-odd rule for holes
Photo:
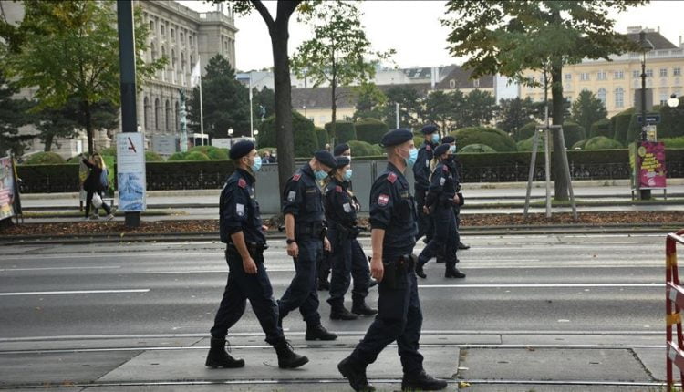
[[390,343],[397,341],[404,377],[403,390],[439,390],[447,383],[423,369],[419,340],[422,325],[413,247],[416,244],[416,208],[404,177],[418,158],[409,129],[394,129],[383,136],[388,166],[370,191],[370,227],[373,257],[371,274],[378,284],[378,316],[363,340],[337,369],[356,391],[375,390],[368,385],[366,367]]

